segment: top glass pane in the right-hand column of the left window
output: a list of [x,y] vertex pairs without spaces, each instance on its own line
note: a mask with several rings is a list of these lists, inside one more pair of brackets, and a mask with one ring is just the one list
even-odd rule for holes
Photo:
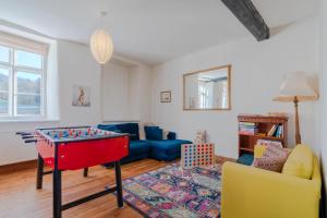
[[16,50],[15,65],[43,69],[43,57],[37,53]]

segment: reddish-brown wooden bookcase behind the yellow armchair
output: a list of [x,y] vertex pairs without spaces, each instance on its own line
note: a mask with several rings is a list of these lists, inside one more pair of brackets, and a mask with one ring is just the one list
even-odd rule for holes
[[[287,147],[288,142],[288,117],[257,116],[257,114],[240,114],[239,120],[239,156],[243,154],[253,154],[254,145],[258,140],[281,142]],[[240,131],[242,124],[255,125],[253,133],[244,133]],[[279,136],[269,135],[272,126],[281,126],[282,132]]]

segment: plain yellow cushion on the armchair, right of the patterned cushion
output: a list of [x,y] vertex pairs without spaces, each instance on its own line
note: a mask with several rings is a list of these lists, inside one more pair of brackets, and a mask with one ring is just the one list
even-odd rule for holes
[[282,173],[311,179],[314,155],[306,145],[296,145],[282,168]]

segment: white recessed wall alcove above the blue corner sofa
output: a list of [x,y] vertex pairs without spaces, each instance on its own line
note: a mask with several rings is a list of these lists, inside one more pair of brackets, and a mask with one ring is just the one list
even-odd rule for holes
[[102,72],[102,120],[150,121],[152,68],[109,62]]

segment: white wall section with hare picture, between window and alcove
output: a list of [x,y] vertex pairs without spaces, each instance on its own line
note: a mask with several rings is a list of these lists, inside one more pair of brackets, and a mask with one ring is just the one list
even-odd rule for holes
[[[101,122],[101,70],[88,47],[70,41],[58,43],[60,124],[83,125]],[[73,107],[73,85],[90,87],[90,107]]]

